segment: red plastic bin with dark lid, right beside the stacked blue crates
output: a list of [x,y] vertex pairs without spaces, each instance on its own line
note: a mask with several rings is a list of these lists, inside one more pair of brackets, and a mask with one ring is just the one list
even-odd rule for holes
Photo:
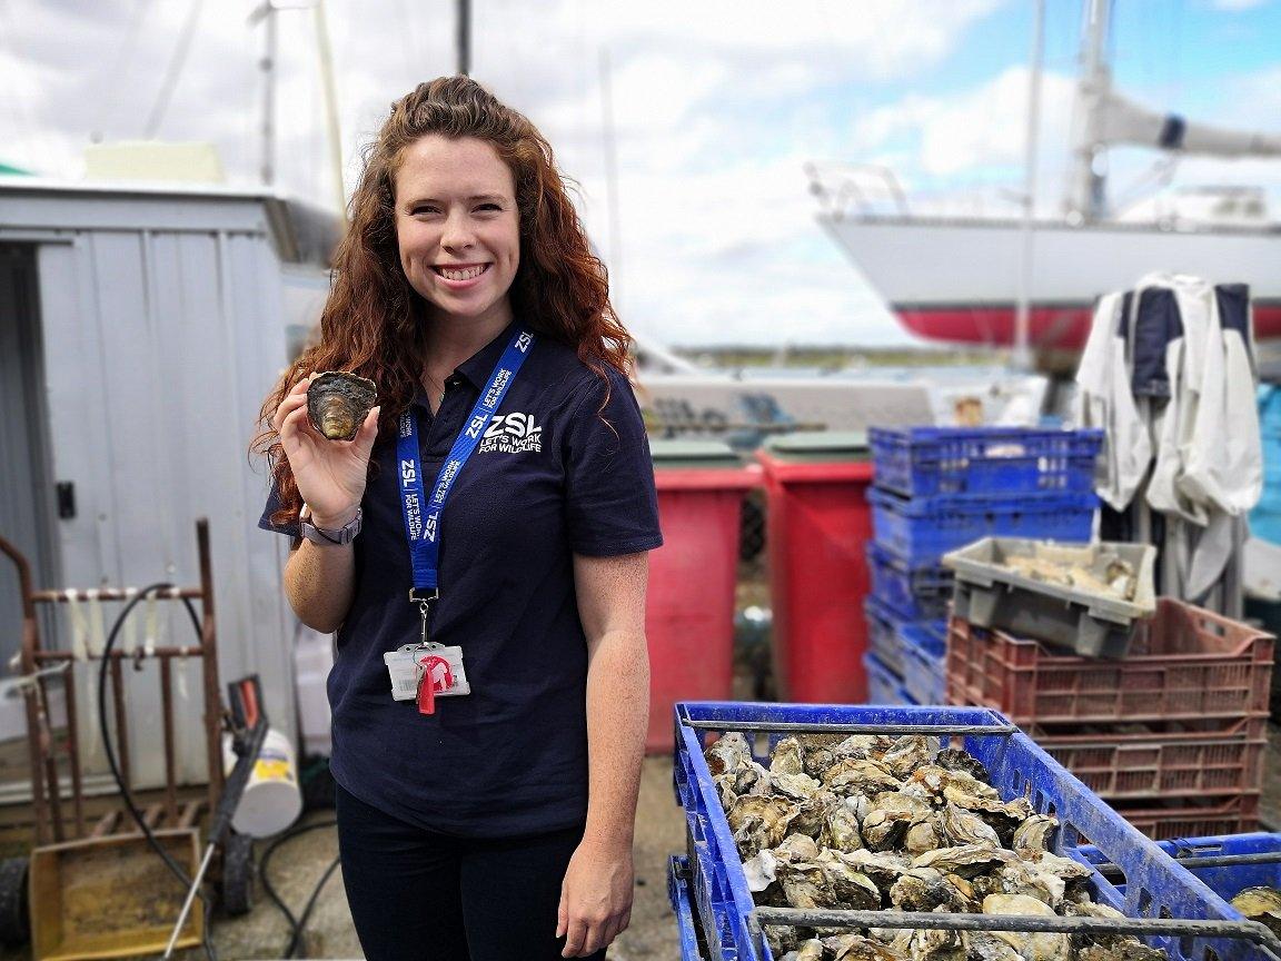
[[765,469],[779,698],[863,703],[872,465],[861,434],[775,438]]

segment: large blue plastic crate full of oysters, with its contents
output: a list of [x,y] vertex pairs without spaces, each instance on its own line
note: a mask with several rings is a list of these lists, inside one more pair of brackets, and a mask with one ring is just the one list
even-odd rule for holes
[[683,702],[675,720],[711,958],[1281,957],[995,711]]

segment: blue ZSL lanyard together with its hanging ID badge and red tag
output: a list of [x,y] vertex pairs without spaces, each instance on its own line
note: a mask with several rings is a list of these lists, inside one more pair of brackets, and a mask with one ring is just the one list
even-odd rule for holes
[[480,436],[489,418],[502,404],[507,388],[516,379],[533,345],[534,336],[528,331],[516,331],[512,336],[511,343],[489,374],[489,382],[480,391],[480,398],[471,407],[466,427],[453,439],[450,455],[436,478],[430,500],[423,489],[418,425],[412,410],[407,409],[401,414],[396,455],[400,461],[405,537],[409,541],[410,564],[414,570],[414,587],[410,588],[409,600],[419,607],[423,633],[416,645],[405,645],[397,651],[384,653],[383,660],[392,675],[392,697],[397,701],[416,698],[421,714],[436,711],[437,693],[466,694],[471,689],[462,670],[461,648],[434,645],[427,637],[428,615],[439,597],[441,513],[453,489],[453,482],[480,443]]

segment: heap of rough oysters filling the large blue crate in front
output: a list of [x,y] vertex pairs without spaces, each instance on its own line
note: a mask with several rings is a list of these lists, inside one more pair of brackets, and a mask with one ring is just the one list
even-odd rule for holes
[[[956,748],[933,750],[933,743],[924,737],[806,734],[779,739],[761,761],[739,735],[710,747],[708,766],[756,903],[1113,916],[1089,901],[1094,871],[1050,850],[1058,819],[1038,814],[1026,797],[1004,800],[974,757]],[[1276,911],[1281,917],[1281,903]],[[1166,957],[1138,938],[1111,934],[959,933],[929,925],[903,930],[767,925],[765,933],[780,958]]]

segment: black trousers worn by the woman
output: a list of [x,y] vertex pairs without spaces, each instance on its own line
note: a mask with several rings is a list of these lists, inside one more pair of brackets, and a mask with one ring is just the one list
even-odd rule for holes
[[[338,852],[368,961],[553,961],[556,910],[582,828],[465,839],[383,814],[336,785]],[[605,961],[605,952],[589,956]]]

